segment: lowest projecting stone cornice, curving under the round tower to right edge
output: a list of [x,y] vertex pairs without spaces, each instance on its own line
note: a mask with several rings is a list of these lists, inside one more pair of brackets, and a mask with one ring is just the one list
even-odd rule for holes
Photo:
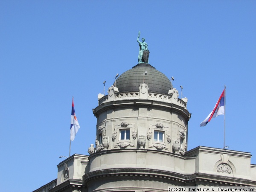
[[[219,175],[210,175],[203,173],[195,173],[192,175],[183,175],[175,172],[161,171],[157,169],[136,169],[136,168],[116,168],[116,169],[104,169],[87,173],[83,176],[84,183],[90,180],[104,177],[127,177],[133,180],[148,180],[150,177],[154,180],[174,180],[180,183],[180,186],[194,186],[196,183],[203,182],[212,183],[217,186],[256,186],[256,182],[246,179],[238,179],[233,177],[224,177]],[[136,178],[137,177],[137,178]],[[114,179],[114,178],[113,178]],[[187,184],[186,184],[187,183]],[[194,184],[192,184],[194,183]]]

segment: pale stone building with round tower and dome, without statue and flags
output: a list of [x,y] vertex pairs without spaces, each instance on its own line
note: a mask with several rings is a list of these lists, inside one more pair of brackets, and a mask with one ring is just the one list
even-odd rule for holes
[[[166,192],[168,186],[256,186],[251,154],[198,146],[187,151],[187,99],[140,63],[99,95],[88,155],[58,164],[57,181],[35,192]],[[54,187],[52,183],[55,183]],[[51,186],[50,186],[51,184]]]

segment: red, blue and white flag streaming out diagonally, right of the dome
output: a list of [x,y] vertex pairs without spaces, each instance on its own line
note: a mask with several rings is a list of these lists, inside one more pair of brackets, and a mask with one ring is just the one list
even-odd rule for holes
[[208,122],[210,122],[212,118],[219,115],[224,115],[224,106],[225,106],[225,89],[221,93],[221,96],[218,99],[218,102],[216,103],[212,112],[207,116],[206,119],[204,119],[203,122],[201,122],[200,127],[204,127]]

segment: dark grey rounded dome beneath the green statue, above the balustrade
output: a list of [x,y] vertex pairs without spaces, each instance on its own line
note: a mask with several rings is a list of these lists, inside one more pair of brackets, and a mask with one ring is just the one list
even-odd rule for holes
[[145,83],[148,84],[151,93],[168,94],[172,89],[172,83],[163,73],[156,70],[150,64],[137,64],[132,69],[125,71],[116,79],[116,87],[119,92],[138,92],[140,84],[143,83],[143,75],[145,75]]

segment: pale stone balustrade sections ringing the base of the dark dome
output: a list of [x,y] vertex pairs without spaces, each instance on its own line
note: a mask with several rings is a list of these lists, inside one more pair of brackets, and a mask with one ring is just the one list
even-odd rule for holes
[[[123,100],[123,99],[139,99],[139,92],[130,92],[130,93],[116,93],[115,100]],[[174,103],[172,100],[172,96],[170,95],[163,95],[158,93],[148,93],[148,100],[153,101],[160,101],[160,102],[166,102],[166,103]],[[186,103],[181,99],[175,99],[177,105],[186,108]],[[108,95],[105,95],[101,99],[99,99],[99,105],[101,105],[103,102],[108,102]]]

